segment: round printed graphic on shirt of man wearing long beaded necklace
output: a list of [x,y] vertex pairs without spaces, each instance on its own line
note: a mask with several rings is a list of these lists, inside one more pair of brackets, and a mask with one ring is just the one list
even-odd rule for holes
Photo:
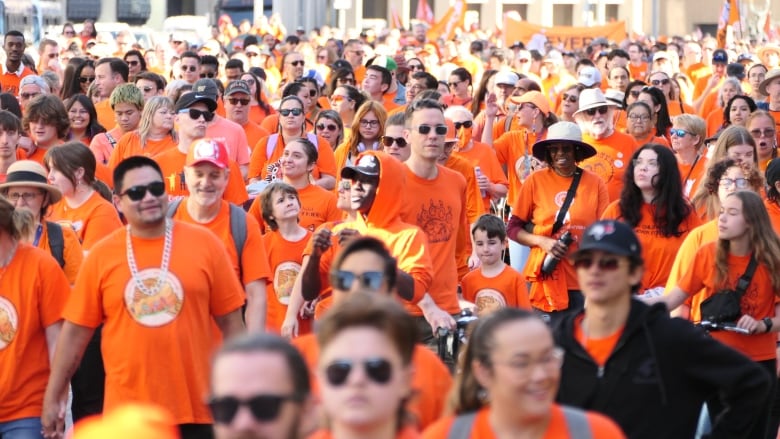
[[[153,289],[161,274],[159,268],[147,268],[141,270],[138,277],[147,289]],[[172,322],[181,312],[183,304],[184,289],[179,279],[171,273],[165,273],[162,286],[150,295],[138,289],[134,278],[130,278],[125,287],[127,311],[143,326],[157,327]]]

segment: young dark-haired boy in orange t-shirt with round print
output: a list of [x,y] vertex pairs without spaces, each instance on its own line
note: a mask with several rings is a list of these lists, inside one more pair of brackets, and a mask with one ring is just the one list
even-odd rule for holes
[[505,306],[531,309],[525,277],[504,264],[501,257],[508,243],[501,218],[482,215],[471,234],[481,266],[463,277],[463,298],[477,306],[480,317]]

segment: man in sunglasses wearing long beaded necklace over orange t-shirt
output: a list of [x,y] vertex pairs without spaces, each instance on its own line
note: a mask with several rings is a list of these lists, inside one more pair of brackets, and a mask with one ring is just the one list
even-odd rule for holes
[[[114,204],[127,228],[106,236],[81,266],[63,311],[42,415],[62,434],[68,381],[101,323],[108,412],[127,401],[171,412],[182,437],[211,438],[209,356],[218,338],[244,331],[244,294],[224,244],[208,230],[167,219],[160,167],[130,157],[114,169]],[[186,342],[184,342],[186,341]]]

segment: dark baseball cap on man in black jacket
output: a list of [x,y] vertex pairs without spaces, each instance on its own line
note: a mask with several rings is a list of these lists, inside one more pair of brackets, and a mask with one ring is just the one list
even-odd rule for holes
[[580,247],[572,255],[599,250],[613,255],[642,259],[642,244],[631,226],[616,220],[601,220],[591,224],[582,234]]

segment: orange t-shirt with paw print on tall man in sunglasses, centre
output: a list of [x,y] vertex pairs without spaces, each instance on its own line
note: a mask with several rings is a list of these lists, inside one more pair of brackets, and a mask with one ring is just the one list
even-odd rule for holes
[[[428,237],[433,262],[433,282],[428,293],[444,312],[456,314],[460,312],[457,258],[463,251],[460,246],[471,245],[466,219],[466,179],[443,166],[437,168],[439,174],[431,180],[406,169],[406,200],[401,206],[401,219],[417,225]],[[422,315],[416,305],[404,303],[404,306],[410,314]]]

